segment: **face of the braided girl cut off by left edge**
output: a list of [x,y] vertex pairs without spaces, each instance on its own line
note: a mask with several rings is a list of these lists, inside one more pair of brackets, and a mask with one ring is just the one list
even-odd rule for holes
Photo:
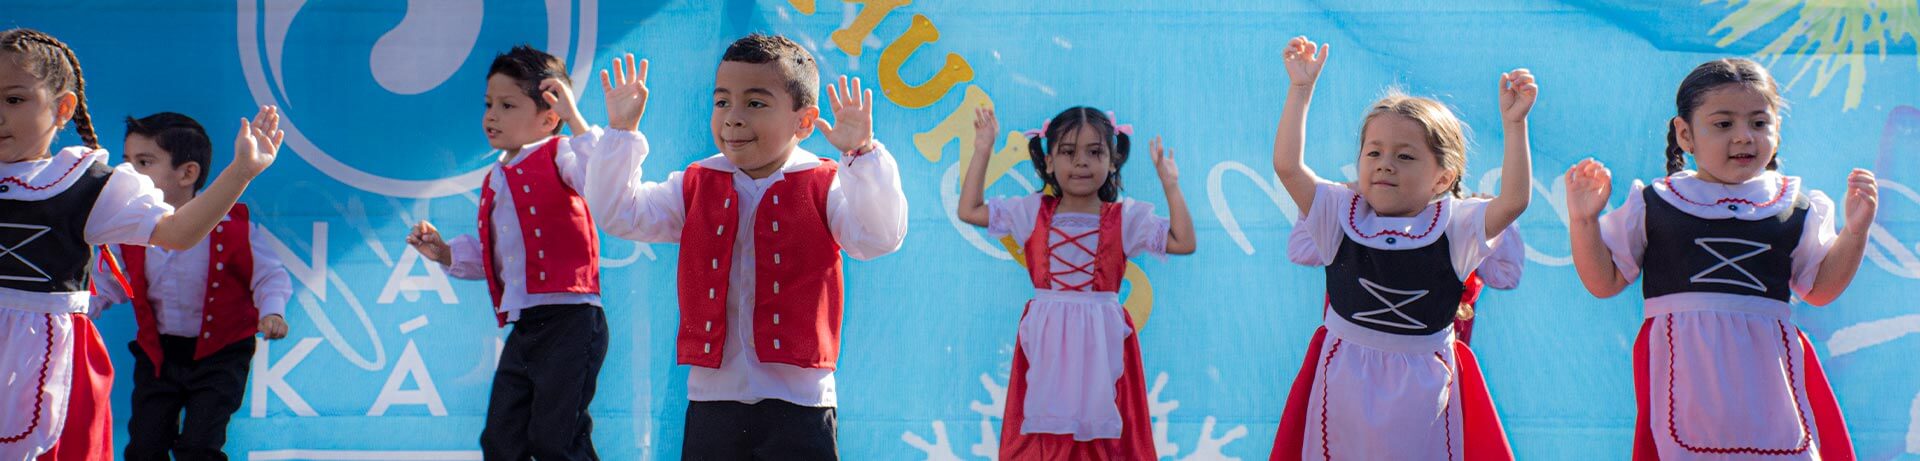
[[77,102],[73,92],[52,94],[17,54],[0,52],[0,163],[50,156],[54,133],[67,125]]

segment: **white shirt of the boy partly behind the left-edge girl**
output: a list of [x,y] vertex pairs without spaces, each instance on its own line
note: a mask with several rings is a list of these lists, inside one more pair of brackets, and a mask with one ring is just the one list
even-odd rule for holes
[[[286,265],[280,263],[280,257],[261,240],[261,232],[259,225],[253,225],[252,232],[248,232],[248,242],[253,248],[253,280],[250,280],[253,307],[259,309],[259,319],[267,319],[267,315],[284,317],[286,300],[294,296],[294,280],[286,275]],[[159,334],[200,336],[207,300],[207,242],[211,238],[202,238],[194,248],[180,252],[159,246],[142,248],[146,252],[146,267],[142,267],[146,271],[146,300],[154,303],[154,321]],[[111,252],[115,259],[127,261],[119,255],[119,246],[111,246]],[[94,313],[131,300],[131,294],[119,282],[113,282],[109,271],[109,267],[94,265]]]

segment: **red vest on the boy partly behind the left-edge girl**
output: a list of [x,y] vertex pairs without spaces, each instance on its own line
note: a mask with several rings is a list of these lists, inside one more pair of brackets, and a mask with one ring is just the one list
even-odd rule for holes
[[[234,204],[227,211],[227,221],[207,234],[207,303],[200,307],[200,340],[194,342],[194,359],[205,359],[234,342],[253,340],[259,332],[259,307],[253,305],[253,244],[248,229],[244,204]],[[132,298],[132,317],[140,325],[140,352],[154,361],[154,373],[165,361],[159,352],[159,321],[154,302],[146,298],[146,246],[121,246],[127,269],[129,298]],[[159,275],[171,277],[171,275]]]

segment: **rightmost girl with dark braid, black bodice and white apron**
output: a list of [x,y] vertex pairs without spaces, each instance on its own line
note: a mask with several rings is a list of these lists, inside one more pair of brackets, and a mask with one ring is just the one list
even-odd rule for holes
[[1596,159],[1567,171],[1580,282],[1613,298],[1640,280],[1634,461],[1855,459],[1793,300],[1828,305],[1847,290],[1880,186],[1853,169],[1839,213],[1826,192],[1780,171],[1786,104],[1761,63],[1713,60],[1674,92],[1667,177],[1634,181],[1601,213],[1613,171]]

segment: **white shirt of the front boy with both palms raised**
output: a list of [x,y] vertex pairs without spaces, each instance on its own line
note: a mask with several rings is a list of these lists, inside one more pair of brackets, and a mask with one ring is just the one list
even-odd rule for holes
[[[877,146],[877,142],[876,142]],[[601,230],[639,242],[680,242],[687,223],[682,171],[662,182],[641,181],[647,144],[618,154],[593,156],[593,177],[588,177],[588,206],[593,207]],[[733,173],[739,194],[739,223],[753,223],[760,196],[791,171],[820,165],[812,152],[795,148],[787,163],[764,179],[747,177],[724,156],[697,161],[703,167]],[[906,192],[900,190],[900,167],[885,146],[841,163],[828,186],[828,229],[841,250],[854,259],[874,259],[900,248],[906,238]],[[753,234],[735,232],[733,265],[728,271],[728,330],[726,355],[718,369],[693,367],[687,373],[687,400],[745,401],[783,400],[808,407],[833,407],[833,371],[804,369],[785,363],[762,363],[753,348],[755,255]]]

